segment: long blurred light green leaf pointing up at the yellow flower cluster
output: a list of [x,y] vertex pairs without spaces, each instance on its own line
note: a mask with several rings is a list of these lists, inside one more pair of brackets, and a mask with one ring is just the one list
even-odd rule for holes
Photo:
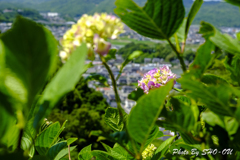
[[87,70],[88,66],[91,65],[85,65],[86,56],[87,46],[82,44],[72,53],[66,64],[47,85],[40,99],[41,106],[35,117],[34,127],[37,127],[38,122],[50,113],[65,94],[74,89],[81,75]]

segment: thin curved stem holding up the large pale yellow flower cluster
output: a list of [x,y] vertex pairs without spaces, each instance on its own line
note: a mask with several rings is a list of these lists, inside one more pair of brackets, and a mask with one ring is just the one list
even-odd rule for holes
[[109,75],[110,75],[110,78],[112,80],[112,85],[113,85],[113,90],[114,90],[114,93],[115,93],[115,99],[116,99],[116,102],[117,102],[117,108],[119,110],[119,114],[120,116],[123,118],[123,109],[121,107],[121,100],[119,98],[119,94],[118,94],[118,91],[117,91],[117,83],[116,83],[116,80],[114,78],[114,75],[112,73],[112,70],[110,69],[110,67],[108,66],[108,64],[106,63],[104,57],[100,56],[101,57],[101,60],[102,60],[102,63],[103,65],[105,66],[105,68],[107,69]]

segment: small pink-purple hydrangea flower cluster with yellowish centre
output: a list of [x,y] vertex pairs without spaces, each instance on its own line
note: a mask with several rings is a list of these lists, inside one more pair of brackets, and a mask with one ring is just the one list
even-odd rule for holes
[[148,93],[151,89],[165,85],[170,79],[176,79],[176,74],[172,73],[168,66],[163,66],[147,72],[142,80],[138,81],[138,86]]

